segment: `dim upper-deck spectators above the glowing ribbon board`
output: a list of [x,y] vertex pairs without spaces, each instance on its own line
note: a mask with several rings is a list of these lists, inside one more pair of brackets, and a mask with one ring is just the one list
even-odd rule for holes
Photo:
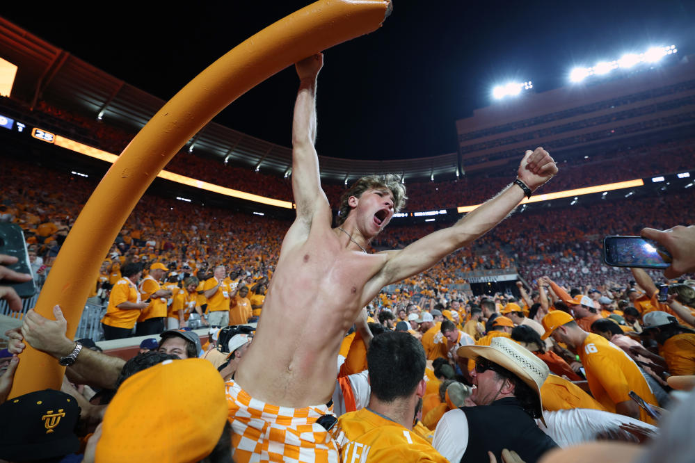
[[[81,130],[88,130],[90,135],[97,138],[94,140],[97,147],[109,152],[120,153],[127,141],[135,135],[56,108],[44,101],[40,102],[38,110],[34,114],[50,116],[54,124],[69,122]],[[630,156],[630,163],[625,163],[625,156]],[[692,167],[694,156],[695,139],[692,138],[607,151],[598,149],[587,159],[563,161],[560,167],[564,175],[545,186],[544,193],[681,172]],[[465,162],[470,163],[470,160]],[[233,159],[224,164],[181,152],[166,169],[212,184],[291,201],[289,179],[239,168],[233,165]],[[488,170],[482,174],[466,175],[456,181],[408,182],[409,200],[406,207],[409,211],[426,211],[480,204],[509,183],[511,174],[511,170],[507,172],[506,169],[497,169],[494,172]],[[323,185],[331,204],[337,204],[345,189],[343,185]]]

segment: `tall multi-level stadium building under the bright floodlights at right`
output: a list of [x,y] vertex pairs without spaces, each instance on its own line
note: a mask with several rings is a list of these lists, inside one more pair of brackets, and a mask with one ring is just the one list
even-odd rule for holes
[[470,174],[516,162],[532,145],[543,145],[555,159],[572,159],[599,144],[605,149],[677,138],[692,133],[694,124],[695,62],[686,56],[618,79],[525,92],[456,121],[456,131],[462,167]]

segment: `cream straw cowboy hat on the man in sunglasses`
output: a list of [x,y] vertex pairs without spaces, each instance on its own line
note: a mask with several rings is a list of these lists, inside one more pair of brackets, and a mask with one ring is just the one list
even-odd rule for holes
[[548,377],[550,370],[548,365],[526,348],[522,348],[516,341],[505,337],[496,337],[490,346],[463,346],[456,351],[458,357],[467,357],[477,360],[478,357],[488,359],[519,377],[528,387],[538,393],[538,402],[541,409],[541,421],[543,419],[543,398],[541,398],[541,386]]

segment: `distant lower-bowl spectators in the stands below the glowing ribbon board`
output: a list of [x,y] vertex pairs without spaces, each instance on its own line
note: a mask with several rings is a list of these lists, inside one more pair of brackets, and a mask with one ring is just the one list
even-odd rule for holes
[[[676,147],[672,149],[680,153]],[[649,153],[643,155],[648,157]],[[687,156],[676,157],[680,163],[688,162]],[[31,169],[28,163],[13,159],[3,159],[3,165],[0,216],[25,230],[31,251],[38,257],[37,269],[47,264],[42,275],[37,275],[37,279],[42,280],[50,271],[52,259],[95,182],[54,170]],[[607,169],[596,172],[607,172]],[[423,185],[436,184],[408,186],[409,204],[417,202],[421,196],[439,197],[439,192],[433,195],[433,192],[417,188]],[[500,185],[494,186],[501,188],[502,179]],[[443,188],[447,193],[441,195],[452,194],[450,189]],[[408,291],[423,294],[448,291],[452,285],[465,283],[464,273],[497,268],[516,268],[529,282],[549,275],[562,284],[577,286],[586,275],[601,275],[603,281],[625,284],[628,275],[602,263],[603,237],[636,234],[641,227],[650,224],[667,227],[681,220],[692,220],[688,193],[689,190],[684,190],[680,195],[664,195],[659,198],[656,209],[654,200],[637,199],[621,201],[619,209],[607,202],[517,212],[481,238],[475,249],[459,250],[442,260],[422,275],[420,284],[410,284]],[[422,206],[432,207],[431,204]],[[401,227],[392,224],[376,237],[372,246],[376,249],[402,248],[438,227],[440,225]],[[145,195],[123,228],[114,251],[129,252],[138,258],[146,254],[148,261],[161,259],[166,265],[181,266],[184,261],[193,261],[195,266],[209,269],[217,263],[225,263],[230,269],[268,276],[286,228],[287,222],[282,220],[230,214],[221,209]],[[145,246],[147,241],[150,245]]]

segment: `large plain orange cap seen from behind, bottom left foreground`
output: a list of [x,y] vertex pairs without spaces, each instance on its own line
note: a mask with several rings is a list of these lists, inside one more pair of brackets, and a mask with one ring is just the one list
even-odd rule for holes
[[210,362],[165,360],[120,385],[95,461],[197,462],[215,448],[227,414],[225,383]]

